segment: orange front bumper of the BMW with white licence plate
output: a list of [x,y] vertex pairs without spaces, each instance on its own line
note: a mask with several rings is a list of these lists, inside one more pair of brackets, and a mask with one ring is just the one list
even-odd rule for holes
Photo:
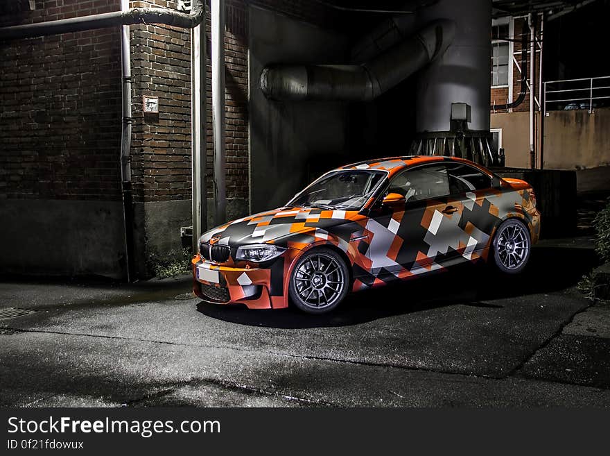
[[272,296],[271,269],[221,266],[200,255],[193,258],[191,266],[193,293],[207,303],[244,304],[249,309],[288,307],[285,293]]

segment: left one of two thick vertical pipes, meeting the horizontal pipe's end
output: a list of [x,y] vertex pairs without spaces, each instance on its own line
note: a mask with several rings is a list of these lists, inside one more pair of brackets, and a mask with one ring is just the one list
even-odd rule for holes
[[191,166],[193,201],[193,253],[207,229],[207,185],[205,179],[205,21],[191,31]]

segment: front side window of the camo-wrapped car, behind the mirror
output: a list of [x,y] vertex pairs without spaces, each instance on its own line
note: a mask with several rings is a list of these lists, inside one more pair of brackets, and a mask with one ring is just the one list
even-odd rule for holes
[[404,195],[407,201],[448,195],[449,181],[445,164],[407,169],[392,179],[387,192]]

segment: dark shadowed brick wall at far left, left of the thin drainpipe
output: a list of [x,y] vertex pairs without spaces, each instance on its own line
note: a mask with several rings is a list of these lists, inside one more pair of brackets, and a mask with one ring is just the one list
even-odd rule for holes
[[[38,0],[28,24],[119,9]],[[118,28],[0,42],[0,198],[120,199]]]

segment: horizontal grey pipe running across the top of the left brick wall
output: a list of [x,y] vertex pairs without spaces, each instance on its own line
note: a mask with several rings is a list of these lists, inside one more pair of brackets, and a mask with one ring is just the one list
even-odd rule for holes
[[98,15],[71,17],[58,21],[0,27],[0,40],[57,35],[58,33],[131,24],[166,24],[180,28],[193,28],[200,24],[203,15],[203,0],[193,0],[191,14],[165,8],[132,8]]

